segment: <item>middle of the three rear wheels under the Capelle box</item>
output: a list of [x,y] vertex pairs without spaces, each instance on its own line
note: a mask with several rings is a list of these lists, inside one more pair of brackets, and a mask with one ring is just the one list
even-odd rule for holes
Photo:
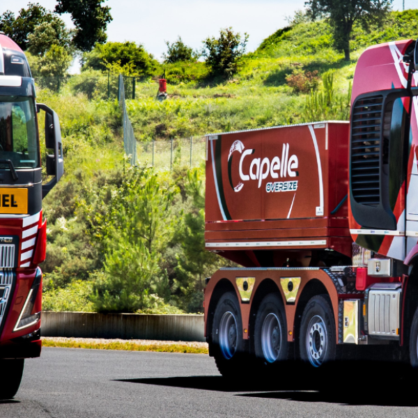
[[270,294],[264,297],[256,316],[254,332],[256,357],[270,368],[288,359],[286,314],[281,297]]

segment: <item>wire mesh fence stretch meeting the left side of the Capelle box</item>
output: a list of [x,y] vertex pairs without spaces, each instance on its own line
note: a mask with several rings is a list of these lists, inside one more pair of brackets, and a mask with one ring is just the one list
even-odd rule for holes
[[138,164],[173,169],[174,164],[198,167],[206,160],[206,137],[138,142]]

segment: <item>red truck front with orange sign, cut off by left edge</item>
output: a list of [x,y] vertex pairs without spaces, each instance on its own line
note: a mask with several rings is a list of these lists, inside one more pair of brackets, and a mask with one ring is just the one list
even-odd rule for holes
[[[42,183],[38,112],[45,111]],[[63,174],[56,113],[36,103],[24,53],[0,33],[0,398],[15,396],[24,359],[39,357],[42,272],[47,224],[42,198]]]

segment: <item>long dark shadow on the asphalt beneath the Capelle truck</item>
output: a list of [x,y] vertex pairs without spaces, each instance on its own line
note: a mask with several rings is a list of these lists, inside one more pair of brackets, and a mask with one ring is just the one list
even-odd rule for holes
[[[376,371],[376,369],[374,370]],[[335,372],[335,371],[334,371]],[[279,376],[287,376],[278,379]],[[303,376],[303,378],[302,378]],[[227,380],[222,376],[187,376],[171,378],[121,379],[119,382],[184,387],[250,398],[287,399],[297,402],[326,402],[340,405],[418,406],[417,379],[405,378],[399,371],[387,369],[380,373],[334,373],[318,379],[317,375],[283,375],[270,378]],[[273,379],[272,379],[273,377]],[[235,392],[235,393],[234,393]],[[236,393],[245,392],[245,393]]]

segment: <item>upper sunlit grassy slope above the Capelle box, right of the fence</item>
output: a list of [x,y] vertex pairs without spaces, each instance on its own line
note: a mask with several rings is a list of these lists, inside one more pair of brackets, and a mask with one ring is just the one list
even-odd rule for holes
[[[417,38],[418,10],[393,12],[382,27],[365,31],[356,26],[351,61],[332,48],[330,26],[324,22],[297,21],[265,39],[247,54],[231,80],[208,79],[204,63],[166,65],[169,100],[156,102],[155,81],[137,85],[137,100],[128,110],[137,139],[189,137],[207,132],[300,123],[306,94],[295,94],[286,77],[297,70],[334,74],[334,88],[348,93],[355,63],[369,45]],[[319,89],[323,86],[320,83]]]

